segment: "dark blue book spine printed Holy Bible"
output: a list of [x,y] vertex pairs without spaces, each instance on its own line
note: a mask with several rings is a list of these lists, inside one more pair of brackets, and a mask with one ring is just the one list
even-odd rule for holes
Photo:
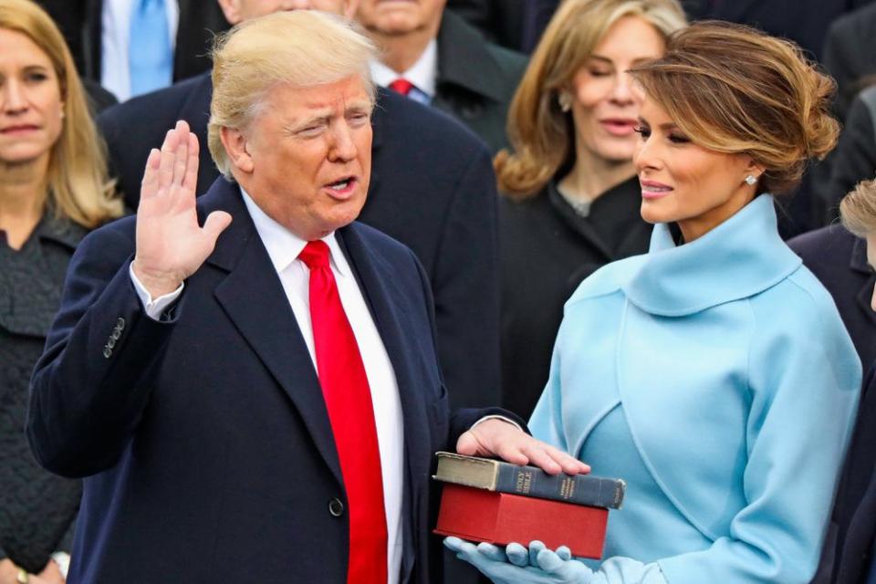
[[589,474],[547,474],[532,466],[499,463],[496,491],[578,505],[616,509],[623,502],[623,481]]

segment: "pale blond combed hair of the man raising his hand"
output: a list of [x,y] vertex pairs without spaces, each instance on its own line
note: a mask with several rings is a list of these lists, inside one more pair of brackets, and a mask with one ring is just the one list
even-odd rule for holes
[[375,57],[377,48],[358,25],[317,10],[277,12],[218,36],[207,134],[216,167],[233,178],[222,129],[244,130],[276,85],[308,88],[360,75],[373,102],[369,63]]

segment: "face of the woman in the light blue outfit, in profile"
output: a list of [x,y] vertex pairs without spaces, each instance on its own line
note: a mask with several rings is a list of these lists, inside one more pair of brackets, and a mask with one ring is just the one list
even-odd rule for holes
[[649,223],[677,222],[685,242],[723,223],[755,197],[759,177],[746,154],[706,149],[685,136],[666,112],[644,99],[633,164],[641,183],[641,216]]

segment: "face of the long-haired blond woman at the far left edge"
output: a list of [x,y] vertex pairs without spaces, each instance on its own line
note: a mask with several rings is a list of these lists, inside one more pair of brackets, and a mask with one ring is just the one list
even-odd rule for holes
[[62,108],[46,53],[28,36],[0,28],[0,162],[47,157],[61,134]]

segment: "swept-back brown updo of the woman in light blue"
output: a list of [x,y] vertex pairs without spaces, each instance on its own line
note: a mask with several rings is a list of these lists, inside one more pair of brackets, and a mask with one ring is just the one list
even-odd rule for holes
[[695,23],[631,75],[692,141],[751,156],[764,169],[757,193],[793,189],[840,133],[829,113],[834,80],[791,41],[749,26]]

